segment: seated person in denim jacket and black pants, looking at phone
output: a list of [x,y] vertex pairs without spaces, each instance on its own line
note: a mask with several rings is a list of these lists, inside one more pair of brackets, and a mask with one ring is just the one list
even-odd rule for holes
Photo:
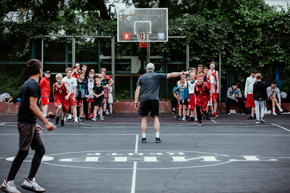
[[230,106],[233,103],[240,103],[241,114],[244,115],[244,101],[242,100],[242,92],[238,88],[237,83],[233,82],[226,94],[226,112],[235,114],[235,110],[230,111]]

